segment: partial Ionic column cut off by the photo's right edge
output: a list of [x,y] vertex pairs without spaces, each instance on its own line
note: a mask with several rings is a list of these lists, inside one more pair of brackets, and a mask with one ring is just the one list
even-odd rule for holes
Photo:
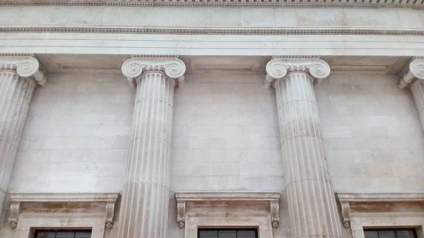
[[411,88],[418,117],[424,129],[424,59],[414,59],[409,64],[408,71],[402,76],[399,88]]

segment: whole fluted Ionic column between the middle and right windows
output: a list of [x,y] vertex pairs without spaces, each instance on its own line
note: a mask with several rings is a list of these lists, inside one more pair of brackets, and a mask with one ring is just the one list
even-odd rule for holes
[[266,73],[276,89],[292,237],[341,237],[314,95],[330,67],[321,59],[271,59]]

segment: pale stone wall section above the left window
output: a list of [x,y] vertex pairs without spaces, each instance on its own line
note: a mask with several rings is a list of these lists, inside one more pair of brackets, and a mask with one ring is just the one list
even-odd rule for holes
[[9,191],[121,191],[134,89],[122,74],[47,78],[30,104]]

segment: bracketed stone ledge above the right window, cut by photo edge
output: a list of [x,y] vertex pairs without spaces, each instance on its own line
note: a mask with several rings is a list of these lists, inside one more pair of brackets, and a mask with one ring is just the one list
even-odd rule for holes
[[[341,222],[343,227],[350,227],[353,211],[351,206],[379,203],[413,203],[424,202],[424,193],[387,193],[387,194],[352,194],[336,193],[341,205]],[[379,209],[376,207],[376,213]]]

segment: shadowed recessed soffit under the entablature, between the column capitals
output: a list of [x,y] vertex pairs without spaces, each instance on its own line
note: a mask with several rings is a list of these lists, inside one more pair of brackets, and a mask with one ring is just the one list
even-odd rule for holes
[[[124,54],[37,54],[36,57],[47,73],[121,73],[122,64],[131,56]],[[174,55],[173,57],[178,56]],[[411,56],[314,57],[326,61],[333,74],[397,75],[411,61]],[[179,59],[186,64],[187,74],[210,72],[264,75],[266,63],[271,56],[179,56]]]

